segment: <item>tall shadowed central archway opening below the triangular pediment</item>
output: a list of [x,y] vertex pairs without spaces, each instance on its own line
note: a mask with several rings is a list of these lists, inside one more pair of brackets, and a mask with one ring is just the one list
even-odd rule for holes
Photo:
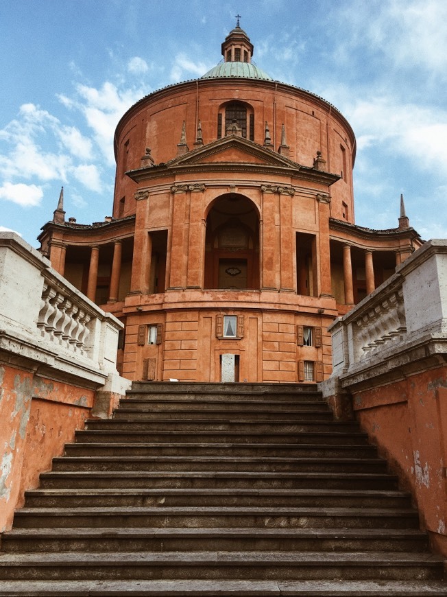
[[205,288],[259,290],[259,215],[243,195],[213,202],[206,218]]

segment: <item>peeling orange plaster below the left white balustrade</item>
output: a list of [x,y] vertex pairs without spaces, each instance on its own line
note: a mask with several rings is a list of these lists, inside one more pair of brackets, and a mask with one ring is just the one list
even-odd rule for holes
[[10,528],[27,489],[73,441],[90,416],[94,391],[0,366],[0,531]]

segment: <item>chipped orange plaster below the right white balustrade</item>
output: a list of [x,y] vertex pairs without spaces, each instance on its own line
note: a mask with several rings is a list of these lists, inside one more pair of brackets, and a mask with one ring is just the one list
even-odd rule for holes
[[356,418],[411,491],[422,527],[447,555],[447,368],[352,395]]

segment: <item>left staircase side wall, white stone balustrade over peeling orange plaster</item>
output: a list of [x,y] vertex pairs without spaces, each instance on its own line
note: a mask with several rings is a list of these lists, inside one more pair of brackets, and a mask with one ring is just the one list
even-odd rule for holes
[[122,327],[18,235],[0,233],[0,531],[85,419],[110,416],[124,395]]

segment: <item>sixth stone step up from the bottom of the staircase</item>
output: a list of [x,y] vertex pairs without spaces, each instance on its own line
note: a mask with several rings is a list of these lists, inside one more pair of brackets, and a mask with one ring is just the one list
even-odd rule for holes
[[56,472],[40,474],[43,489],[397,489],[397,478],[381,473]]

